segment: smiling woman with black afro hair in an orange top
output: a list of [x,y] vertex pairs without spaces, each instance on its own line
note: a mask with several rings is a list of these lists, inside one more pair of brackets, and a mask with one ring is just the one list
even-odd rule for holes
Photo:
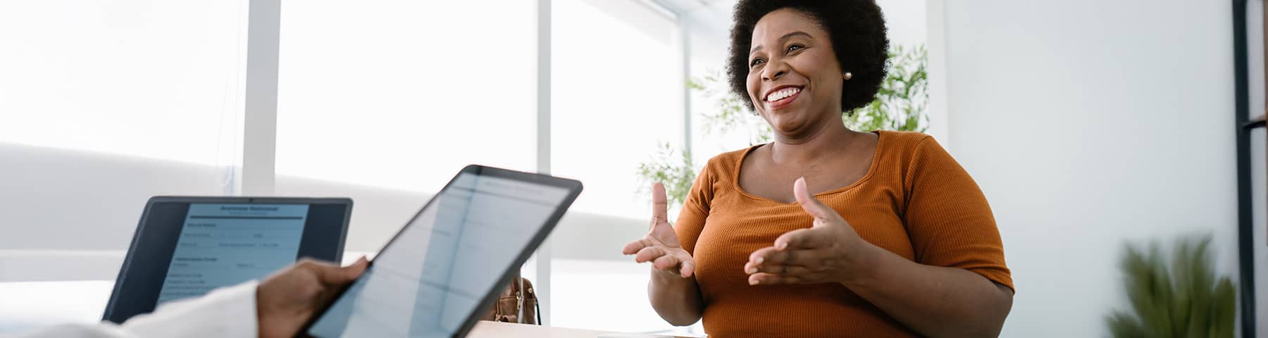
[[775,141],[715,156],[625,246],[652,306],[710,337],[998,335],[1013,284],[973,177],[921,133],[850,130],[885,75],[871,0],[739,1],[728,75]]

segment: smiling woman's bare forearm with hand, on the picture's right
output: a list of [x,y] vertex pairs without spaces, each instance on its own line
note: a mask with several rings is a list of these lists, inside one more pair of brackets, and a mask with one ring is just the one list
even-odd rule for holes
[[792,190],[814,225],[753,252],[744,266],[749,284],[838,282],[924,335],[999,335],[1012,309],[1011,289],[964,268],[917,263],[867,243],[836,210],[806,192],[805,180]]

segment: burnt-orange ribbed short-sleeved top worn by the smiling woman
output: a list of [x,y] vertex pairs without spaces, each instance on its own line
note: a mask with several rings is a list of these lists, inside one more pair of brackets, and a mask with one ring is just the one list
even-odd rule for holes
[[[929,135],[877,134],[867,173],[815,196],[872,244],[922,265],[964,268],[1013,287],[999,229],[973,177]],[[739,165],[754,148],[710,160],[675,225],[696,260],[709,337],[917,335],[842,285],[748,285],[743,267],[749,253],[812,224],[795,203],[739,189]]]

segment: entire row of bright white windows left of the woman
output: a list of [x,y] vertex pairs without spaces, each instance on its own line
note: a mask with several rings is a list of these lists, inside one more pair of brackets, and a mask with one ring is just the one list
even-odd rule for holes
[[[99,249],[122,261],[146,197],[240,192],[242,148],[268,144],[242,138],[243,115],[260,114],[245,111],[245,78],[271,76],[246,67],[251,1],[262,0],[0,4],[0,158],[28,165],[0,166],[16,177],[0,180],[0,204],[24,206],[0,219],[51,225],[5,225],[0,268],[5,249]],[[637,167],[662,143],[683,146],[681,28],[652,4],[550,1],[550,134],[538,134],[538,1],[285,1],[273,190],[354,197],[355,258],[460,167],[535,171],[545,160],[585,182],[569,219],[593,220],[600,230],[587,241],[605,243],[550,260],[550,324],[668,328],[643,292],[593,296],[642,290],[647,266],[590,254],[619,252],[643,232],[649,197]],[[42,191],[22,194],[33,186]],[[89,277],[46,280],[118,271],[93,266]],[[0,281],[24,280],[13,276],[0,270]],[[612,305],[621,313],[590,310]]]

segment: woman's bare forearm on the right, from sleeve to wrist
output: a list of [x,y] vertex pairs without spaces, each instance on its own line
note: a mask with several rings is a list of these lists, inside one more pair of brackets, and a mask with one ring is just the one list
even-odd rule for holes
[[875,247],[869,266],[842,282],[928,337],[998,337],[1013,291],[962,268],[927,266]]

